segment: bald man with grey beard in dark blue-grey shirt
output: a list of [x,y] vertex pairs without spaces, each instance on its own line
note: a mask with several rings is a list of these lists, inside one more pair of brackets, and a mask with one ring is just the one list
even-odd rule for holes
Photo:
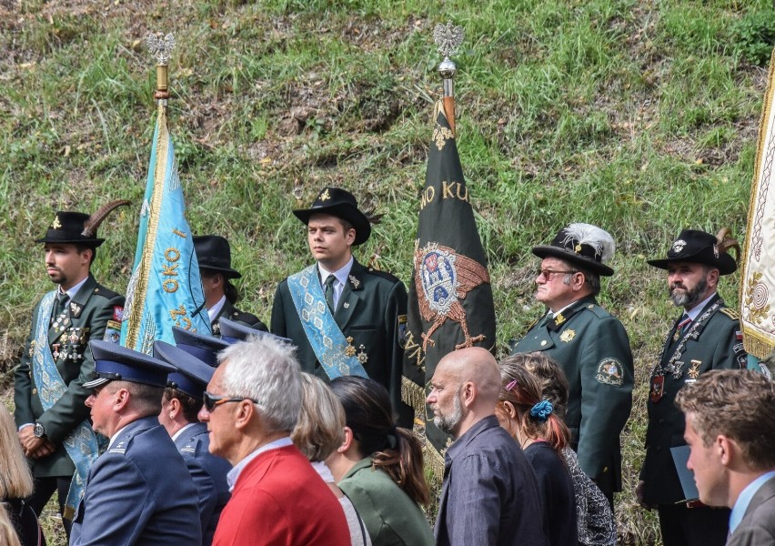
[[430,380],[433,422],[455,438],[447,450],[436,521],[438,546],[548,544],[528,460],[498,426],[498,363],[486,349],[449,353]]

